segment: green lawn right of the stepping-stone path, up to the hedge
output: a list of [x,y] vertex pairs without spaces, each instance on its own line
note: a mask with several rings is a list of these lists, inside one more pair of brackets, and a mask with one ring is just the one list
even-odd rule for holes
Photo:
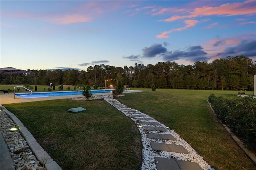
[[256,169],[210,110],[207,100],[211,93],[238,94],[237,91],[156,89],[154,92],[128,93],[116,99],[175,130],[213,168]]

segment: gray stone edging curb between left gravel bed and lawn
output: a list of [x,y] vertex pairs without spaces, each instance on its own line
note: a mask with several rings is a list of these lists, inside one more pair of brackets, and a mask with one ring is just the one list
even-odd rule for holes
[[50,157],[50,155],[38,144],[34,136],[28,131],[28,129],[23,125],[23,123],[10,111],[8,111],[4,106],[1,106],[2,110],[14,121],[16,125],[19,126],[19,131],[22,136],[26,139],[28,146],[35,154],[36,158],[47,170],[62,170],[60,166]]

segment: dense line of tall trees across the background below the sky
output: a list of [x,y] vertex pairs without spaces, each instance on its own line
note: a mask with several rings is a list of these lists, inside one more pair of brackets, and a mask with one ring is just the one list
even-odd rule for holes
[[156,65],[138,64],[114,67],[110,65],[90,66],[82,70],[30,70],[35,74],[1,75],[1,84],[32,85],[91,85],[108,87],[116,84],[121,77],[124,85],[130,87],[174,89],[218,89],[237,90],[253,88],[253,75],[256,74],[256,61],[244,55],[196,61],[193,65],[178,65],[175,62],[159,62]]

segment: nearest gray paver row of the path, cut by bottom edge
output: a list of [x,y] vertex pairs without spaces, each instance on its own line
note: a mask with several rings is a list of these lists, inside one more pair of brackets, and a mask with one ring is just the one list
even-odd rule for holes
[[157,170],[202,170],[195,162],[155,157]]

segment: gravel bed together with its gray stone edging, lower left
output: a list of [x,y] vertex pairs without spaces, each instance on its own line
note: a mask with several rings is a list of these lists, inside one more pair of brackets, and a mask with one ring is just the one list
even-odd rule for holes
[[[4,106],[1,107],[1,133],[16,170],[62,170],[22,122]],[[10,128],[18,130],[10,132]]]

